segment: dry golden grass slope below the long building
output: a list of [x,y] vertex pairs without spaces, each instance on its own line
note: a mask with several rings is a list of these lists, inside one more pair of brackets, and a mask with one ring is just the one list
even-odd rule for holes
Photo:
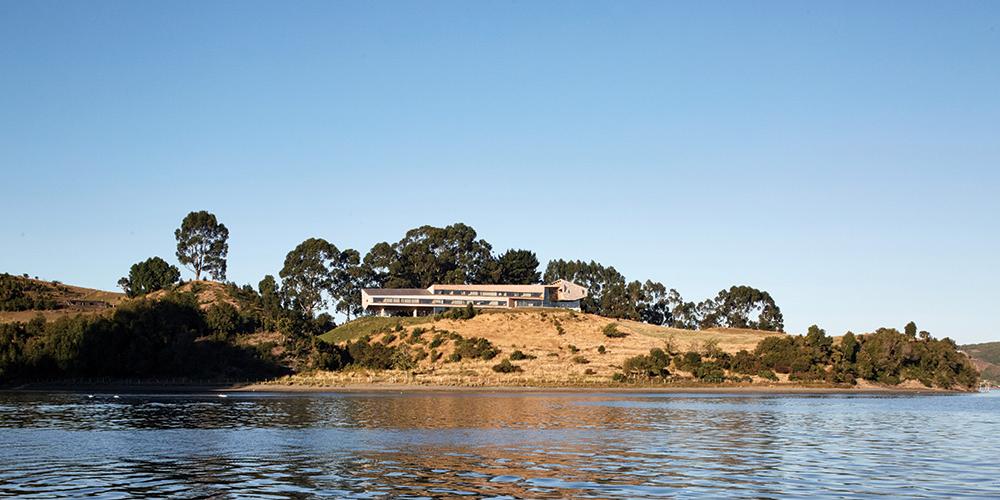
[[[615,324],[626,336],[607,337],[604,329],[609,324]],[[434,338],[442,332],[457,334],[465,339],[485,338],[501,353],[492,360],[446,362],[455,351],[456,344],[443,342],[435,346]],[[406,346],[413,352],[434,349],[439,359],[434,361],[433,355],[421,359],[414,370],[421,383],[467,385],[470,381],[480,380],[491,384],[585,385],[606,383],[615,372],[620,371],[626,359],[668,344],[679,350],[701,350],[706,342],[710,342],[717,343],[723,351],[735,353],[741,349],[753,350],[761,339],[776,335],[784,334],[737,329],[681,330],[547,309],[488,311],[466,320],[365,317],[345,323],[321,338],[343,343],[368,336],[372,341],[388,339],[389,345]],[[523,370],[521,374],[501,376],[492,370],[493,365],[514,351],[521,351],[528,357],[517,363]],[[329,384],[375,381],[382,376],[393,375],[358,371],[310,375],[315,383]]]

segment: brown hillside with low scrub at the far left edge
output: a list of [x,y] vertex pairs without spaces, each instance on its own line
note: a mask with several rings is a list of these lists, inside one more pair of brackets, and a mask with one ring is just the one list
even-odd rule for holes
[[125,294],[64,285],[27,276],[0,275],[0,323],[99,314],[127,300]]

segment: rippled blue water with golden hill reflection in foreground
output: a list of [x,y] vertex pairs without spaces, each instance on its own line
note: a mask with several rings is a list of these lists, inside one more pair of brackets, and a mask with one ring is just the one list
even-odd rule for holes
[[0,393],[0,495],[1000,497],[1000,397]]

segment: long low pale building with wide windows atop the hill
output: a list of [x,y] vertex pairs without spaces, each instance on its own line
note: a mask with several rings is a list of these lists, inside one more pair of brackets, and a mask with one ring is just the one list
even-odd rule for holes
[[431,285],[428,288],[365,288],[361,307],[380,316],[434,314],[472,304],[477,309],[563,307],[580,310],[587,289],[558,280],[549,285]]

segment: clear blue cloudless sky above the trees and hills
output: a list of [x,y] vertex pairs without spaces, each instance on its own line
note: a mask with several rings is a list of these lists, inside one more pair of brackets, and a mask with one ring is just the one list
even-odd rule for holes
[[[786,330],[1000,340],[1000,2],[0,0],[0,271],[464,222]],[[192,274],[185,271],[184,277]]]

